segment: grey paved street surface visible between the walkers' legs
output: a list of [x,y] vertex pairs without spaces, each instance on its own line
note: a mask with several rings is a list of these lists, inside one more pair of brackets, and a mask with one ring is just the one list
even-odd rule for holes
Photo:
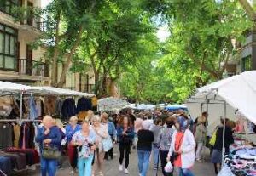
[[[123,176],[125,175],[124,173],[119,172],[119,154],[118,154],[118,148],[115,149],[115,156],[113,161],[107,161],[105,162],[105,175],[106,176]],[[130,166],[129,166],[129,171],[130,171],[130,176],[137,176],[138,171],[137,171],[137,152],[136,150],[131,151],[131,156],[130,156]],[[208,161],[208,158],[207,158]],[[152,164],[151,164],[152,166]],[[38,167],[39,168],[39,167]],[[209,162],[206,163],[196,163],[195,167],[193,169],[195,176],[214,176],[214,170],[212,167],[212,164]],[[25,171],[22,173],[16,173],[15,176],[38,176],[40,174],[39,169],[36,171]],[[57,173],[58,176],[68,176],[72,175],[70,173],[70,168],[68,166],[68,162],[66,161],[64,164],[64,169],[59,170]],[[153,167],[150,167],[148,171],[148,176],[155,176],[156,172],[153,170]],[[160,171],[158,172],[158,176],[161,176],[162,173]],[[76,176],[76,174],[75,174]],[[177,176],[177,174],[175,174]]]

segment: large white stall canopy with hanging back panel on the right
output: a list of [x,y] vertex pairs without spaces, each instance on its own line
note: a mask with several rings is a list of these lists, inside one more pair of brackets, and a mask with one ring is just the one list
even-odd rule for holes
[[186,105],[194,117],[201,116],[201,110],[208,109],[212,132],[219,124],[219,117],[224,116],[225,102],[227,118],[236,120],[236,116],[241,115],[256,123],[256,71],[246,71],[199,88]]

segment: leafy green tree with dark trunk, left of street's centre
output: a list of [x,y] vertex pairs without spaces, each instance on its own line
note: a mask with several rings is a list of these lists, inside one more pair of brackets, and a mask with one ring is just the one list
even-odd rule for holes
[[120,71],[133,63],[139,54],[138,41],[152,27],[137,4],[128,1],[108,1],[96,24],[84,36],[79,56],[92,66],[95,94],[102,97],[109,95],[107,81],[116,82]]

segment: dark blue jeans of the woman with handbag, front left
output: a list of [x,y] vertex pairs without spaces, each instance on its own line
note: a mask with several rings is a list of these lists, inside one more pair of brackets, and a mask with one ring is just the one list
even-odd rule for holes
[[41,173],[42,176],[55,176],[58,167],[58,160],[50,160],[41,157]]

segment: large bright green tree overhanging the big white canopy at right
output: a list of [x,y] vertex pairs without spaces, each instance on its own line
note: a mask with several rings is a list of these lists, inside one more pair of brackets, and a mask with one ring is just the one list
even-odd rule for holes
[[160,66],[172,80],[170,95],[182,101],[195,88],[222,79],[236,54],[234,41],[243,41],[243,32],[252,24],[236,2],[176,1],[172,6],[175,10],[168,14],[171,37]]

